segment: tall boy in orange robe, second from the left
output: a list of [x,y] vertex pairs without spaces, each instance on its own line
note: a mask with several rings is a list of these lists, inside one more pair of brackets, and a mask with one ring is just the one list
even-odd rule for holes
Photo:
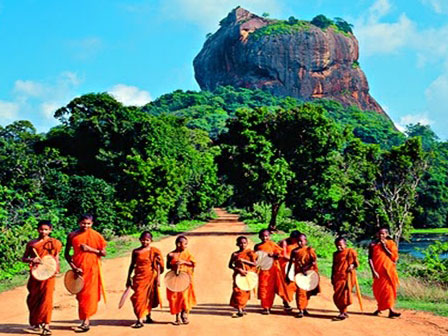
[[[98,309],[101,292],[104,298],[104,284],[101,274],[101,257],[106,255],[106,240],[92,229],[93,216],[82,215],[78,220],[79,229],[69,233],[65,246],[65,259],[72,270],[84,279],[83,289],[76,294],[78,314],[81,324],[76,332],[90,329],[90,317]],[[73,248],[73,256],[70,250]]]

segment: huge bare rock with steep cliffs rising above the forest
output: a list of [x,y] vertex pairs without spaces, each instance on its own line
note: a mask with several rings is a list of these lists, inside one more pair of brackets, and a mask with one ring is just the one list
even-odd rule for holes
[[385,114],[369,94],[352,34],[304,22],[285,26],[291,27],[285,31],[278,23],[240,7],[230,12],[194,59],[201,89],[260,88],[304,100],[334,99]]

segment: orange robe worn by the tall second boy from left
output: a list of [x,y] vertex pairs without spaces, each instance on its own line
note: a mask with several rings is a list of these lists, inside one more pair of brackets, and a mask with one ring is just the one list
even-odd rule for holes
[[76,267],[82,269],[84,279],[83,289],[76,294],[79,303],[78,314],[81,320],[86,320],[96,313],[104,284],[101,279],[101,258],[95,253],[82,251],[81,244],[103,250],[107,243],[103,236],[93,229],[77,232],[72,237],[72,261]]

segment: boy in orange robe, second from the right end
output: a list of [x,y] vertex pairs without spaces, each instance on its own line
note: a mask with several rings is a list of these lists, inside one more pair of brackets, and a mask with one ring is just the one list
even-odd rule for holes
[[337,251],[333,253],[333,267],[331,269],[331,284],[333,285],[333,301],[339,309],[338,320],[348,317],[347,307],[352,304],[352,289],[356,283],[355,269],[359,266],[356,251],[347,248],[343,237],[334,241]]

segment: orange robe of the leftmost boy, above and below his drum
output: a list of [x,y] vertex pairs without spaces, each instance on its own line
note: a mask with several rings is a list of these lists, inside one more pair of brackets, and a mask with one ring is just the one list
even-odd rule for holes
[[[62,249],[62,243],[54,238],[37,243],[29,242],[28,246],[34,248],[40,257],[52,255],[57,257]],[[28,296],[26,303],[30,311],[30,325],[36,326],[41,323],[49,324],[51,321],[51,313],[53,311],[53,292],[55,285],[55,277],[51,277],[44,281],[33,278],[30,274],[28,280]]]

